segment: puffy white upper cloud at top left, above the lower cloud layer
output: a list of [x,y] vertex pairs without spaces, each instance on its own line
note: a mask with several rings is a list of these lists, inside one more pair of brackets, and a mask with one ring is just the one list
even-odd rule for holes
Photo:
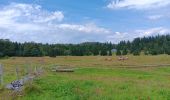
[[[62,21],[64,15],[61,11],[49,12],[42,10],[40,5],[12,3],[0,9],[1,19],[8,21],[32,21],[35,23]],[[20,17],[20,19],[19,19]]]

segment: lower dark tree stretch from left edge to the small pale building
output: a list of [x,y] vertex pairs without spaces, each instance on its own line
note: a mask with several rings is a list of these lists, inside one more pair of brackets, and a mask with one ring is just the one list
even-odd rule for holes
[[85,42],[80,44],[42,44],[34,42],[11,42],[0,39],[0,57],[41,57],[41,56],[111,56],[116,46],[112,43]]

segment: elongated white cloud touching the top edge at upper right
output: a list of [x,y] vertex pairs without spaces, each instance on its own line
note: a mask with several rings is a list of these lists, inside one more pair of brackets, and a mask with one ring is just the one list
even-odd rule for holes
[[165,7],[170,4],[169,0],[113,0],[107,5],[110,9],[155,9]]

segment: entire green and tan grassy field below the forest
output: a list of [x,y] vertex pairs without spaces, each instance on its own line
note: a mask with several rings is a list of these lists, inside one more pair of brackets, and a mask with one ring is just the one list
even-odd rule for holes
[[[41,66],[42,60],[43,75],[15,99],[170,100],[170,56],[167,55],[129,56],[127,61],[118,61],[116,56],[1,59],[4,83],[16,79],[15,67],[20,67],[20,74],[24,75],[25,67]],[[73,73],[52,72],[57,65],[76,69]],[[1,89],[0,96],[9,97],[9,92]]]

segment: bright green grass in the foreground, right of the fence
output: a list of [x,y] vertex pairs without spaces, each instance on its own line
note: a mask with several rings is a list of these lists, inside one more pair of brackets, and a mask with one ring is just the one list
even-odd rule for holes
[[164,73],[157,74],[157,71],[149,73],[127,69],[81,69],[75,73],[51,73],[34,82],[42,93],[29,91],[21,99],[167,100],[170,98],[169,78]]

